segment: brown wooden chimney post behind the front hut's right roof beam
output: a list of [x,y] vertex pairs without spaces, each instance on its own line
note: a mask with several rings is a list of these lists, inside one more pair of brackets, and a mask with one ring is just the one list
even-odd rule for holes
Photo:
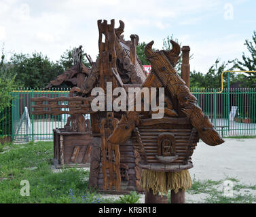
[[189,46],[183,46],[182,51],[182,64],[181,64],[181,78],[185,81],[187,87],[190,89],[190,65],[189,65]]

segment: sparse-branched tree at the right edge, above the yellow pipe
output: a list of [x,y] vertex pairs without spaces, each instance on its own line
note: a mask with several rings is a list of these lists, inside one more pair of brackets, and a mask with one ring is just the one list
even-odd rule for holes
[[[253,32],[253,41],[245,40],[244,45],[246,45],[247,50],[251,56],[245,56],[242,53],[242,60],[236,60],[236,68],[241,71],[256,71],[256,31]],[[244,77],[244,83],[246,87],[256,87],[256,73],[247,73],[249,76]]]

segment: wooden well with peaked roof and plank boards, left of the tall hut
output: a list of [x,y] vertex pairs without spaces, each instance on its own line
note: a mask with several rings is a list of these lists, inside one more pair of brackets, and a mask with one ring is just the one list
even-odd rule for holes
[[[59,75],[45,87],[56,87],[65,83],[69,87],[82,87],[90,68],[81,62],[81,46],[73,51],[73,66]],[[88,113],[90,98],[73,98],[74,88],[69,97],[33,98],[33,115],[69,114],[64,128],[56,128],[54,132],[54,164],[60,167],[85,167],[90,163],[92,151],[92,129],[90,119],[85,119]],[[68,102],[66,103],[63,102]],[[64,110],[63,110],[64,109]]]

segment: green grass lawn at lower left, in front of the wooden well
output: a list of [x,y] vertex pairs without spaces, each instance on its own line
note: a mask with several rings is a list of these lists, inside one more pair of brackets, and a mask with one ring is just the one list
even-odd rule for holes
[[[89,172],[77,168],[52,172],[52,142],[5,144],[3,149],[5,153],[0,154],[0,203],[102,202],[100,195],[90,193],[85,180]],[[20,195],[21,180],[29,180],[29,197]]]

